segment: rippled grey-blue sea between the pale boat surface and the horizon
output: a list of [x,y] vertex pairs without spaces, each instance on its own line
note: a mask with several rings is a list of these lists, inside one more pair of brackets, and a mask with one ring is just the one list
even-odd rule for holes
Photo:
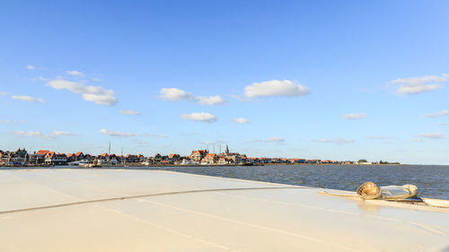
[[[110,169],[123,168],[110,167]],[[379,186],[413,184],[418,187],[418,196],[449,199],[449,166],[439,165],[266,165],[126,169],[174,170],[216,177],[349,191],[355,191],[366,181],[372,181]]]

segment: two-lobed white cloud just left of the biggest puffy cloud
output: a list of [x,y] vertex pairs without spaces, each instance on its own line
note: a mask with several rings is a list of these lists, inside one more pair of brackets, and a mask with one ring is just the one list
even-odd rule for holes
[[194,100],[201,105],[221,105],[227,101],[221,96],[194,96],[187,91],[177,88],[163,88],[160,91],[159,99],[161,100]]

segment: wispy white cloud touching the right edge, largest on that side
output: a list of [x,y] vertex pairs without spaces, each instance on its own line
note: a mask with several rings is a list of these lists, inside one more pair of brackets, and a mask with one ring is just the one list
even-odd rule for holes
[[[449,74],[438,75],[427,75],[423,77],[410,77],[405,79],[392,80],[390,83],[401,83],[398,88],[398,93],[400,94],[418,94],[425,91],[433,91],[441,88],[441,84],[448,80]],[[427,84],[433,83],[433,84]]]

